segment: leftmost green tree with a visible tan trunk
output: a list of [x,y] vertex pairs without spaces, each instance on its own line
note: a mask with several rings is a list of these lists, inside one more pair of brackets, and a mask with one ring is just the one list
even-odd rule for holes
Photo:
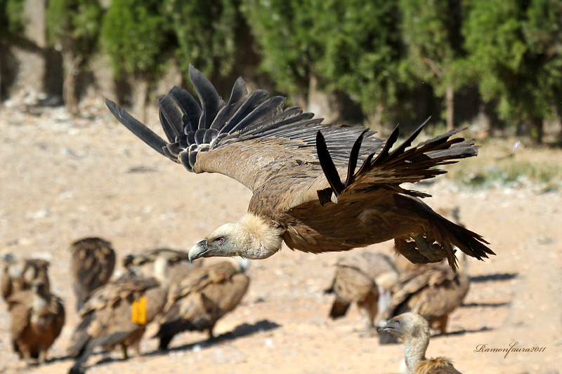
[[96,51],[101,20],[98,0],[48,1],[48,37],[63,56],[63,99],[74,115],[78,114],[77,76]]

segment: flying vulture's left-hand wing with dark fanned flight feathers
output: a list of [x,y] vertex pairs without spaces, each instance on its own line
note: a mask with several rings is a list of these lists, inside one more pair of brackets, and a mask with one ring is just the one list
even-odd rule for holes
[[[283,109],[285,98],[268,98],[267,91],[248,94],[237,79],[230,99],[224,102],[209,80],[194,67],[190,79],[200,103],[182,88],[174,87],[158,100],[159,119],[167,141],[143,123],[106,100],[112,114],[160,154],[195,173],[228,175],[256,189],[271,175],[299,173],[287,168],[293,161],[309,178],[322,174],[316,153],[316,133],[322,131],[336,165],[344,166],[351,145],[365,133],[360,159],[382,148],[384,140],[360,126],[327,125],[299,107]],[[357,156],[355,156],[357,159]],[[298,169],[298,167],[297,167]]]

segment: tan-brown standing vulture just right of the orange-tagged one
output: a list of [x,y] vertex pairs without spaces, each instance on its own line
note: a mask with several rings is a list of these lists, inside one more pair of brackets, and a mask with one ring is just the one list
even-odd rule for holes
[[250,279],[244,272],[249,261],[235,260],[193,269],[172,286],[155,335],[159,349],[168,349],[174,335],[186,330],[207,330],[213,338],[216,321],[235,309],[248,290]]

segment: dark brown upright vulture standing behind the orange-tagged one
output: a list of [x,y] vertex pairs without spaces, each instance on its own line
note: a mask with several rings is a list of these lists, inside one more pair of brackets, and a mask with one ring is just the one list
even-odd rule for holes
[[84,238],[70,246],[72,281],[77,310],[96,288],[110,280],[115,268],[115,251],[111,243],[100,238]]

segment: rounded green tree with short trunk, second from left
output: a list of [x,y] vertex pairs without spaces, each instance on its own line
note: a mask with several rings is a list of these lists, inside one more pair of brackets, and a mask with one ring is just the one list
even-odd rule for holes
[[169,58],[169,33],[162,2],[157,0],[112,0],[103,18],[105,49],[116,75],[133,80],[133,111],[141,119],[150,84],[162,75]]

